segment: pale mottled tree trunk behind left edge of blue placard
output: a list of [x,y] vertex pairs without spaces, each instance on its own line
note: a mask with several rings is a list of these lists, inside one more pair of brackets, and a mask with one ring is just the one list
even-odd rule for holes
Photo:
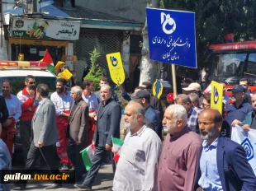
[[[147,7],[159,7],[159,0],[151,0],[147,2]],[[140,62],[140,85],[142,82],[153,82],[157,75],[157,63],[149,58],[149,36],[147,19],[145,26],[142,30],[143,44],[141,49],[141,62]]]

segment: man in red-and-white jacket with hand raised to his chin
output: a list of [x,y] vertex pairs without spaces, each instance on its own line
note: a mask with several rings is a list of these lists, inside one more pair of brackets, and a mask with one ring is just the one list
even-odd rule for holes
[[17,94],[17,98],[21,102],[20,130],[24,162],[26,162],[26,156],[31,147],[31,121],[39,103],[36,100],[36,77],[26,76],[25,85],[26,87]]

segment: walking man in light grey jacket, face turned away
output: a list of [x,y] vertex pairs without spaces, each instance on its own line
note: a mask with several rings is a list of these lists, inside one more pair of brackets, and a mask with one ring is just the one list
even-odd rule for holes
[[[56,128],[55,105],[47,98],[49,87],[46,84],[40,84],[36,88],[36,98],[40,101],[36,112],[32,119],[32,136],[30,150],[27,154],[25,170],[23,174],[30,174],[29,170],[34,165],[38,156],[43,156],[45,163],[49,166],[53,175],[59,175],[59,164],[55,158],[56,142],[59,142],[59,137]],[[21,180],[15,184],[19,188],[26,189],[26,180]],[[61,188],[61,180],[55,180],[54,184],[50,184],[46,189]]]

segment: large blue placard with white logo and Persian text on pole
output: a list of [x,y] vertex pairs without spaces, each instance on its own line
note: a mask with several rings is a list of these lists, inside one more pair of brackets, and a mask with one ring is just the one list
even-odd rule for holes
[[150,59],[197,68],[195,13],[147,8]]

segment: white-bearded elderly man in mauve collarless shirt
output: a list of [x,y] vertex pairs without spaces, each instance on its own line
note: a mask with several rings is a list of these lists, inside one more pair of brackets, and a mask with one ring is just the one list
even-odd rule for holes
[[168,106],[163,125],[168,134],[159,160],[159,191],[192,190],[201,138],[187,127],[187,112],[182,105]]

